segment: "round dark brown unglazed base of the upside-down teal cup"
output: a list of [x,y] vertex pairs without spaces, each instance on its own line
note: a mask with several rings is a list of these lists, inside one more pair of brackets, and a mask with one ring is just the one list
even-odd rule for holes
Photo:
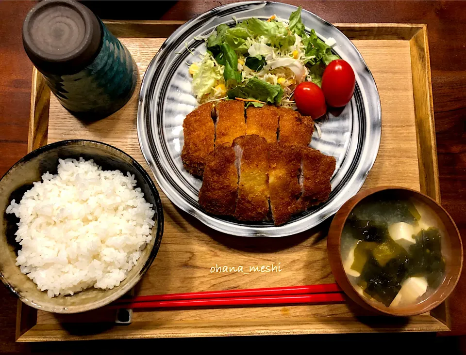
[[34,66],[51,74],[77,73],[100,50],[102,29],[97,16],[72,0],[45,0],[23,23],[23,45]]

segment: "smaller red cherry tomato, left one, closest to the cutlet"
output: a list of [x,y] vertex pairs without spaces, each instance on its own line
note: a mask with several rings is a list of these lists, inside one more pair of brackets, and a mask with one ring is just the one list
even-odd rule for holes
[[298,111],[304,116],[311,116],[313,120],[327,112],[324,93],[310,81],[304,81],[296,87],[295,102]]

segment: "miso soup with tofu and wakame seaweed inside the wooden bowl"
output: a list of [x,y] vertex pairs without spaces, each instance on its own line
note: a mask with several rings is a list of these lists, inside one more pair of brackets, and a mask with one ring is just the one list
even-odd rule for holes
[[341,256],[353,287],[386,307],[424,301],[445,278],[445,227],[423,202],[379,192],[351,212]]

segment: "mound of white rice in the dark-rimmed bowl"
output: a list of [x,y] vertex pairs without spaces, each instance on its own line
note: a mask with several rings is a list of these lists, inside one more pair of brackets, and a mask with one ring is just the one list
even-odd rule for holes
[[49,297],[123,281],[152,239],[154,210],[129,172],[59,159],[6,213],[19,219],[17,265]]

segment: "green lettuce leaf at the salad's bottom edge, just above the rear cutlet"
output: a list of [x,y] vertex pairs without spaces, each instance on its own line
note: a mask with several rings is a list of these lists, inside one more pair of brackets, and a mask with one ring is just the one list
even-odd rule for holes
[[280,104],[283,89],[280,85],[272,85],[263,80],[253,77],[245,85],[238,85],[228,91],[229,99],[239,97],[242,99],[255,99],[270,104]]

